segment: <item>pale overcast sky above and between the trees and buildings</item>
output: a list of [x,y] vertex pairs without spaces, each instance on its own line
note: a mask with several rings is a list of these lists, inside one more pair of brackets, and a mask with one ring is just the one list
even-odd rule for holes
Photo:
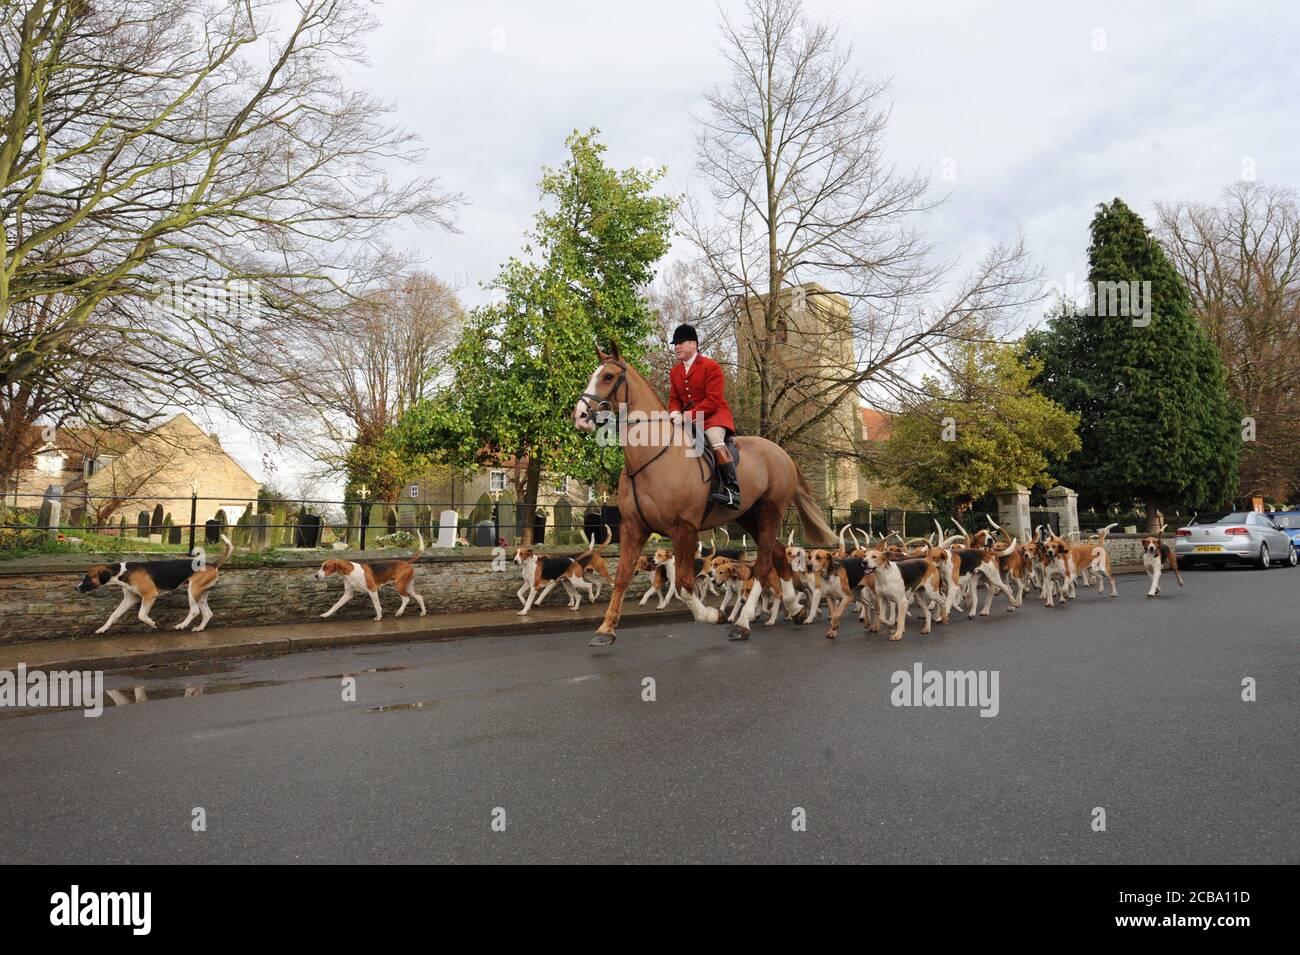
[[[1243,174],[1300,186],[1300,5],[1134,6],[806,3],[870,74],[893,78],[888,157],[949,195],[918,222],[937,253],[970,265],[1022,231],[1062,283],[1087,273],[1100,201],[1119,196],[1150,223],[1156,200],[1213,201]],[[563,161],[573,129],[598,126],[610,162],[667,165],[666,190],[692,191],[690,117],[725,78],[718,16],[701,0],[380,5],[355,84],[420,134],[419,172],[471,200],[460,234],[395,243],[482,301],[478,285],[517,252],[541,166]],[[945,160],[956,181],[941,178]],[[685,253],[679,243],[670,257]],[[247,435],[231,430],[226,447],[265,477]]]

